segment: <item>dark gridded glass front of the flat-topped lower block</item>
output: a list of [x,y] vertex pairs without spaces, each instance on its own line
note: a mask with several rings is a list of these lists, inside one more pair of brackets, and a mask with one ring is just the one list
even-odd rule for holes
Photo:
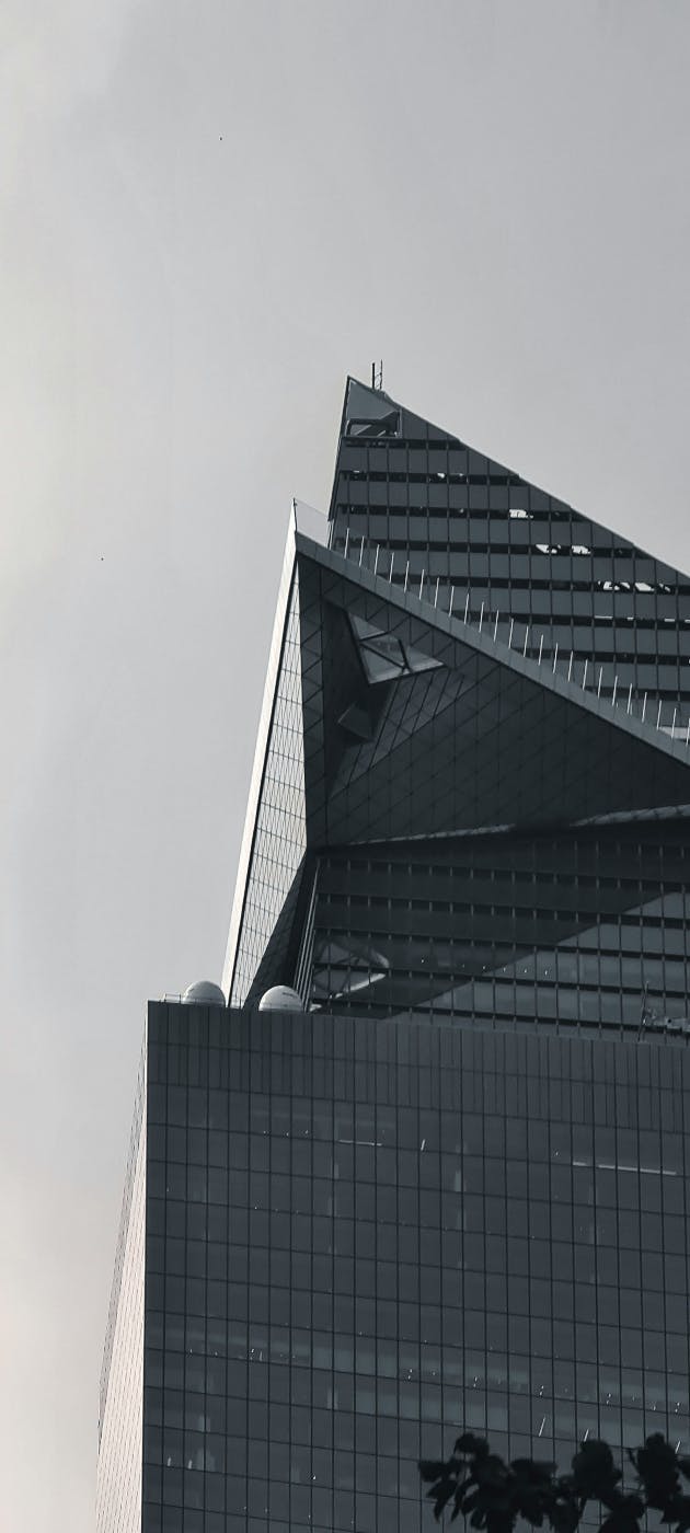
[[682,1042],[155,1006],[149,1062],[144,1533],[417,1533],[463,1424],[687,1446]]

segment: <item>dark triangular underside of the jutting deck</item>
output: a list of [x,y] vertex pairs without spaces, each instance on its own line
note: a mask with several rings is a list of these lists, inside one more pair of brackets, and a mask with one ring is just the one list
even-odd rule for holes
[[[299,535],[297,572],[308,845],[572,825],[687,800],[684,740],[624,699],[596,698]],[[357,670],[362,624],[437,665],[371,682]],[[366,739],[342,727],[348,696],[368,707]]]

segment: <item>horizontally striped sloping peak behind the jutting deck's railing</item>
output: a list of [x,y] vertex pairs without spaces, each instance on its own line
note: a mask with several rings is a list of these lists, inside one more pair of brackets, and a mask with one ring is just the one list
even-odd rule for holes
[[[647,694],[656,721],[687,725],[690,583],[619,533],[400,409],[397,434],[340,438],[331,547],[393,584],[422,575],[448,610],[512,618],[524,653],[589,678],[601,696]],[[363,540],[363,541],[362,541]],[[379,555],[376,555],[379,549]],[[393,560],[393,572],[391,572]]]

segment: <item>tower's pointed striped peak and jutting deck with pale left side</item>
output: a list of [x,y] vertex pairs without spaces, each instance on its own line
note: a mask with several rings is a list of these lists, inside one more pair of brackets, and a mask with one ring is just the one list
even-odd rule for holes
[[328,547],[296,526],[228,941],[242,993],[293,946],[310,851],[690,802],[685,576],[356,379]]

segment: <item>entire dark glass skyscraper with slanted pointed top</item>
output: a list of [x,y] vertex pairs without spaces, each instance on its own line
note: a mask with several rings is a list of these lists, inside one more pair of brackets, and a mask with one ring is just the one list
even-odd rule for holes
[[411,1533],[463,1426],[690,1446],[688,659],[684,576],[348,380],[230,1006],[149,1007],[98,1533]]

